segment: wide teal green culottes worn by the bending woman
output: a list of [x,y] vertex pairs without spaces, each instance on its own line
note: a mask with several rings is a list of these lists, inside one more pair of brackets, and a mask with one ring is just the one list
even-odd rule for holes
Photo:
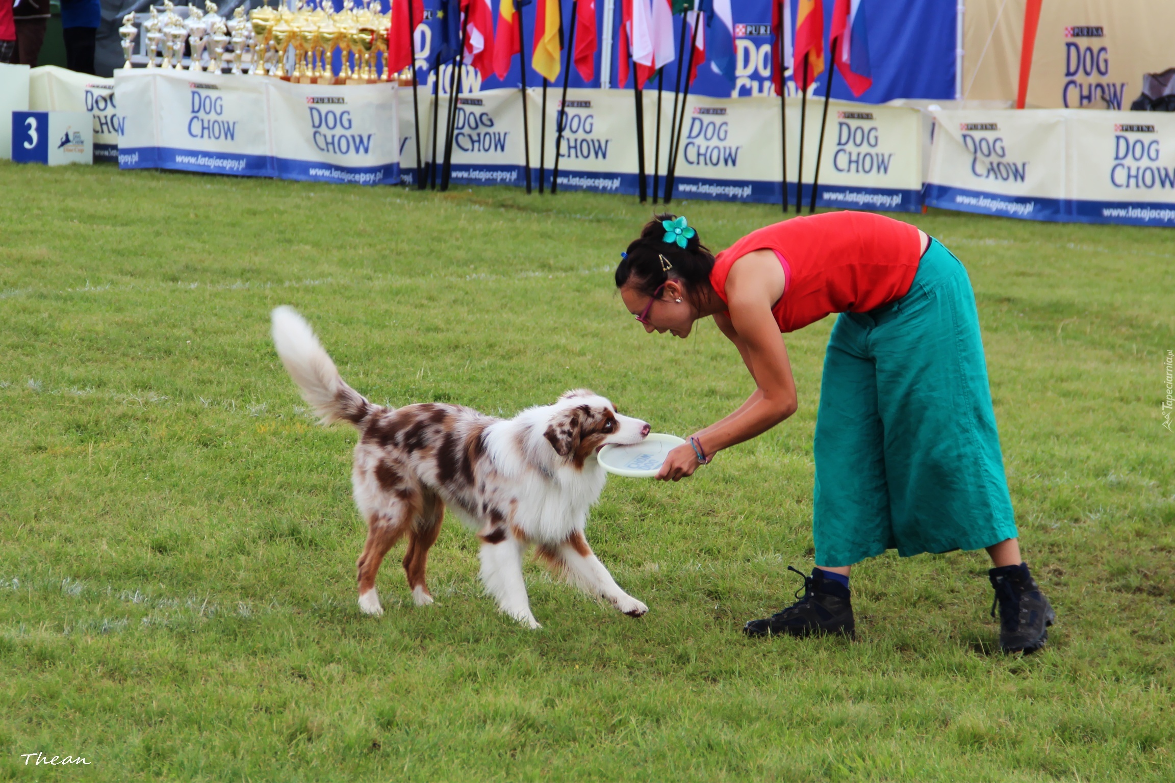
[[813,450],[818,566],[1016,536],[975,295],[936,239],[906,296],[837,317]]

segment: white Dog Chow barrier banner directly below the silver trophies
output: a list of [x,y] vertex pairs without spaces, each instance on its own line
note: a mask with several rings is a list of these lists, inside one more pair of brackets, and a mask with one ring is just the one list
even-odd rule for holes
[[119,167],[275,176],[268,79],[213,73],[116,70],[125,121]]

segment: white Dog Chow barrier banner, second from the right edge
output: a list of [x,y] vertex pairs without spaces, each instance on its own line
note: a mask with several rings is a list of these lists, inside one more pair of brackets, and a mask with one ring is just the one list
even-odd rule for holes
[[927,204],[1063,220],[1063,113],[935,112],[932,137]]

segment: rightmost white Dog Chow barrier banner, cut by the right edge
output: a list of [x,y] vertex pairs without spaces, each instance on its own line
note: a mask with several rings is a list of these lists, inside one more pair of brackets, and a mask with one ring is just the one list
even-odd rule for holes
[[1175,227],[1175,115],[1066,114],[1068,220]]

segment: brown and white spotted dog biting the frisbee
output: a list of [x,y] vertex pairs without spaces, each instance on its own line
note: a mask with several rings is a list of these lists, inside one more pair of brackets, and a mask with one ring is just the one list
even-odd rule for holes
[[358,559],[363,612],[383,614],[376,572],[405,535],[412,599],[417,606],[432,603],[424,565],[445,506],[481,538],[485,590],[519,622],[539,627],[522,574],[522,556],[531,544],[584,592],[634,617],[649,610],[617,586],[584,538],[588,511],[605,480],[596,452],[605,444],[644,440],[647,424],[620,416],[588,390],[569,391],[553,405],[526,409],[512,419],[461,405],[374,405],[343,382],[310,325],[291,308],[274,310],[273,336],[286,369],[323,423],[348,421],[360,431],[351,482],[368,522]]

